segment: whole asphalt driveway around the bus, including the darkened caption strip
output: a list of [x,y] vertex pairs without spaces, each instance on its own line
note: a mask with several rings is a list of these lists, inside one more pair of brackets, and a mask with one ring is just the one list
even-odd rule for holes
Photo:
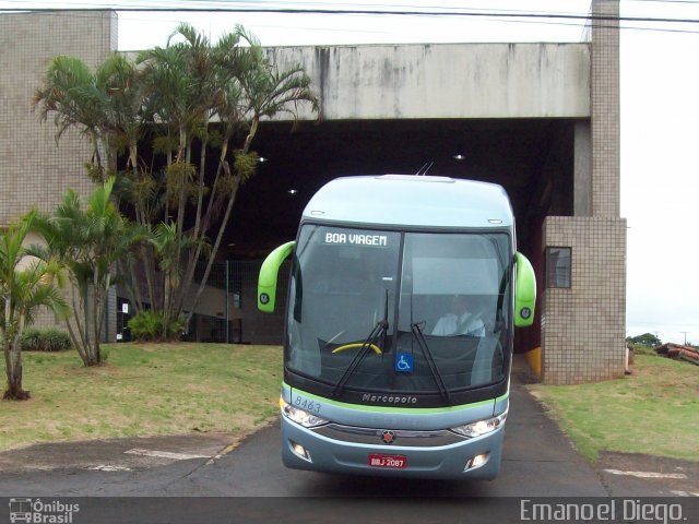
[[[125,458],[125,449],[157,449],[157,439],[146,444],[122,442],[120,446],[79,443],[61,448],[62,453],[44,446],[43,455],[36,456],[29,448],[14,454],[27,467],[13,466],[7,460],[12,452],[3,453],[0,496],[40,497],[44,501],[79,498],[75,500],[83,504],[82,513],[76,513],[72,522],[80,524],[520,522],[522,498],[677,495],[667,481],[611,475],[592,467],[526,393],[522,377],[513,373],[502,471],[493,481],[398,480],[286,469],[280,460],[275,424],[224,453],[221,439],[205,436],[193,438],[204,442],[199,450],[190,445],[177,457],[165,453]],[[180,444],[181,450],[186,442]],[[72,464],[76,460],[71,460],[71,453],[90,457],[92,466],[84,460],[80,465]],[[57,464],[51,467],[42,462],[40,469],[32,471],[28,466],[39,455],[55,456]],[[95,469],[95,465],[99,467]],[[691,472],[696,474],[699,472]],[[699,502],[699,498],[695,500]],[[699,510],[697,504],[692,508]],[[0,507],[0,522],[5,516]]]

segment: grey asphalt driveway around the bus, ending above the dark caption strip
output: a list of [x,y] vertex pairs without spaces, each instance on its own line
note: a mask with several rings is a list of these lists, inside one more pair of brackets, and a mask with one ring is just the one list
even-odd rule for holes
[[[107,444],[109,445],[109,444]],[[145,444],[140,443],[139,446]],[[110,446],[114,446],[111,444]],[[157,446],[152,439],[150,448]],[[543,413],[520,382],[511,391],[510,416],[500,476],[494,481],[401,481],[347,477],[286,469],[280,460],[280,430],[275,424],[246,439],[235,451],[218,458],[164,461],[153,467],[141,461],[133,466],[108,456],[103,442],[81,443],[87,455],[80,467],[71,467],[70,445],[63,448],[58,468],[8,473],[0,479],[0,493],[26,496],[212,496],[212,497],[544,497],[607,496],[595,471],[570,445],[568,439]],[[92,453],[91,449],[100,449]],[[122,446],[129,448],[129,444]],[[44,450],[61,449],[45,446]],[[24,461],[32,461],[32,450]],[[123,450],[119,450],[123,454]],[[57,456],[57,453],[54,453]],[[189,453],[196,456],[197,453]],[[121,457],[119,457],[121,458]],[[58,456],[57,456],[58,460]],[[90,462],[100,469],[88,469]],[[127,463],[128,464],[128,463]],[[114,467],[109,467],[114,466]],[[50,466],[45,465],[45,468]],[[126,471],[126,468],[130,471]],[[11,468],[10,468],[11,469]],[[114,471],[109,471],[114,469]],[[121,471],[120,471],[121,469]]]

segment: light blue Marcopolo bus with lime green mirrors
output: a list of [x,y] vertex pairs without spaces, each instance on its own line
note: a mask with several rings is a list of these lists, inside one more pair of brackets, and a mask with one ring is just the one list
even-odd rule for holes
[[263,262],[275,308],[292,255],[282,384],[287,467],[423,478],[500,471],[516,326],[536,284],[500,186],[345,177]]

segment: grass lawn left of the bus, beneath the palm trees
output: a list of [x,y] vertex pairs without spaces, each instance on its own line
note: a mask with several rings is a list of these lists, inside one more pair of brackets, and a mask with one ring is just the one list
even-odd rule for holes
[[[226,344],[108,344],[106,366],[74,352],[24,353],[26,402],[0,403],[0,451],[110,437],[254,430],[279,410],[282,350]],[[4,362],[0,365],[4,385]]]

